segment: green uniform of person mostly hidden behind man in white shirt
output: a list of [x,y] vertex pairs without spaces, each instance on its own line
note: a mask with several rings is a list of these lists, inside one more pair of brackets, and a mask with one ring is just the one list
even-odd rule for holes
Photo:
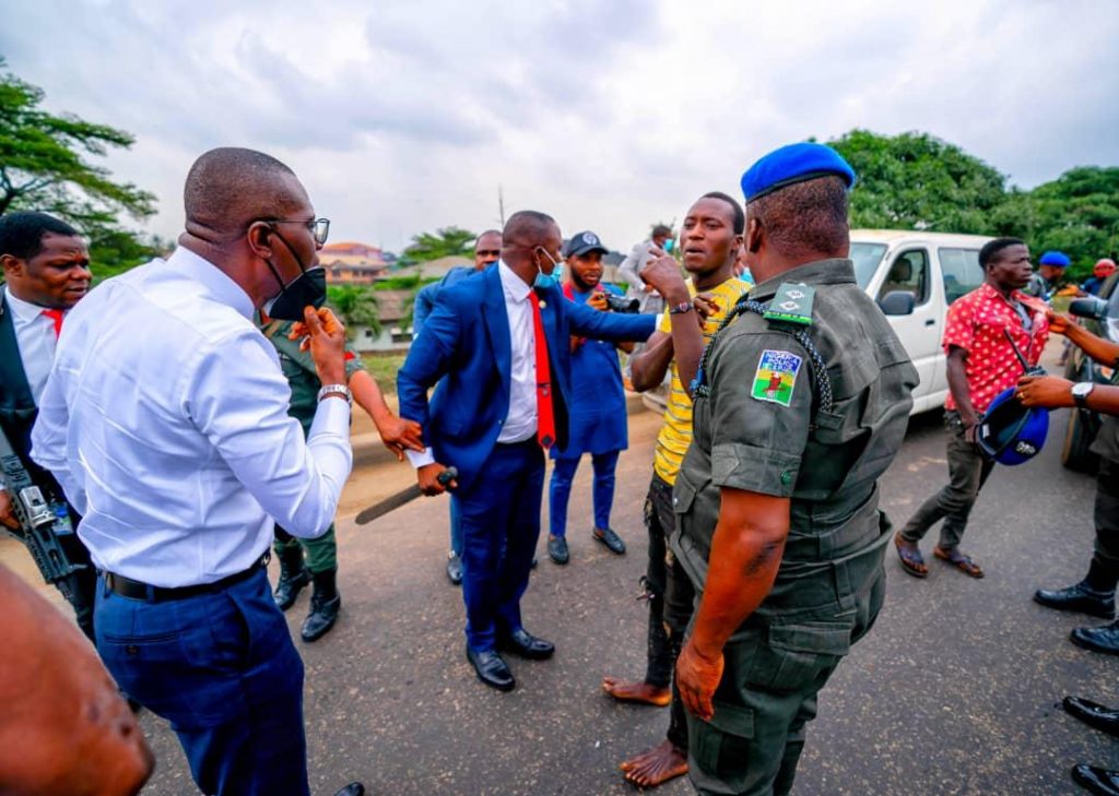
[[[319,389],[322,382],[314,370],[314,359],[310,351],[300,351],[298,340],[289,340],[293,325],[292,321],[272,321],[262,324],[260,315],[255,319],[256,325],[276,349],[280,356],[280,367],[291,387],[291,404],[288,414],[299,420],[303,426],[303,436],[311,432],[311,423],[314,420],[314,410],[319,405]],[[361,358],[350,347],[346,344],[346,381],[358,370],[365,370]],[[307,551],[307,568],[312,574],[327,572],[338,568],[338,543],[335,541],[335,525],[318,539],[298,539],[280,525],[276,525],[274,549],[276,556],[283,556],[284,550],[299,549],[302,547]]]

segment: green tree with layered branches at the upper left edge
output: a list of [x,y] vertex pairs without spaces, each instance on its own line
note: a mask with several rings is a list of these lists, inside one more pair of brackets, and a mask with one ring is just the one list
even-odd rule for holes
[[109,258],[97,260],[109,269],[150,257],[151,244],[121,229],[119,219],[148,218],[156,197],[113,180],[87,157],[103,157],[111,146],[129,149],[132,135],[72,114],[54,115],[40,107],[43,100],[40,88],[0,72],[0,215],[41,210],[66,219],[88,237],[91,255]]

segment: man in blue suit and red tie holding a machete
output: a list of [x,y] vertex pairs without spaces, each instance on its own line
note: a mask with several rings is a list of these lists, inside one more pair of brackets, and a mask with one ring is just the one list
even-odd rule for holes
[[540,532],[544,449],[567,437],[567,341],[645,340],[656,323],[565,301],[562,243],[552,217],[514,214],[498,266],[440,292],[397,375],[401,417],[424,429],[427,452],[410,456],[421,489],[439,494],[438,476],[459,471],[467,658],[500,691],[516,682],[499,647],[530,660],[555,651],[525,631],[520,597]]

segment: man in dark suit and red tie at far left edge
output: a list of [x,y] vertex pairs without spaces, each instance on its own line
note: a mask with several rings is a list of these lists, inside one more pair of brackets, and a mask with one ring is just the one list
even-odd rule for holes
[[[0,428],[31,481],[65,520],[69,532],[58,536],[63,551],[78,569],[66,578],[77,623],[93,639],[96,571],[78,539],[81,518],[54,477],[28,455],[37,401],[54,361],[66,313],[90,290],[90,253],[78,231],[44,212],[0,216]],[[0,478],[0,486],[3,486]],[[0,523],[18,529],[12,495],[0,489]],[[59,585],[62,588],[62,585]],[[64,594],[66,593],[64,590]]]

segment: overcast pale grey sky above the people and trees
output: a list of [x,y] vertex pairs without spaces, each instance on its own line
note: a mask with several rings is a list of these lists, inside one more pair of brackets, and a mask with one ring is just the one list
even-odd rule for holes
[[130,131],[105,163],[182,225],[217,145],[291,165],[331,239],[551,212],[627,248],[768,150],[933,133],[1033,187],[1119,165],[1116,0],[0,0],[47,107]]

